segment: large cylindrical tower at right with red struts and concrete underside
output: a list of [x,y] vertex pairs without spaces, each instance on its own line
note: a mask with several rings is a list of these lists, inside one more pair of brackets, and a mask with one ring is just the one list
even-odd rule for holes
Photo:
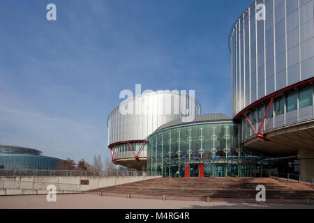
[[229,47],[241,146],[294,156],[301,178],[314,176],[313,0],[253,1],[234,22]]

